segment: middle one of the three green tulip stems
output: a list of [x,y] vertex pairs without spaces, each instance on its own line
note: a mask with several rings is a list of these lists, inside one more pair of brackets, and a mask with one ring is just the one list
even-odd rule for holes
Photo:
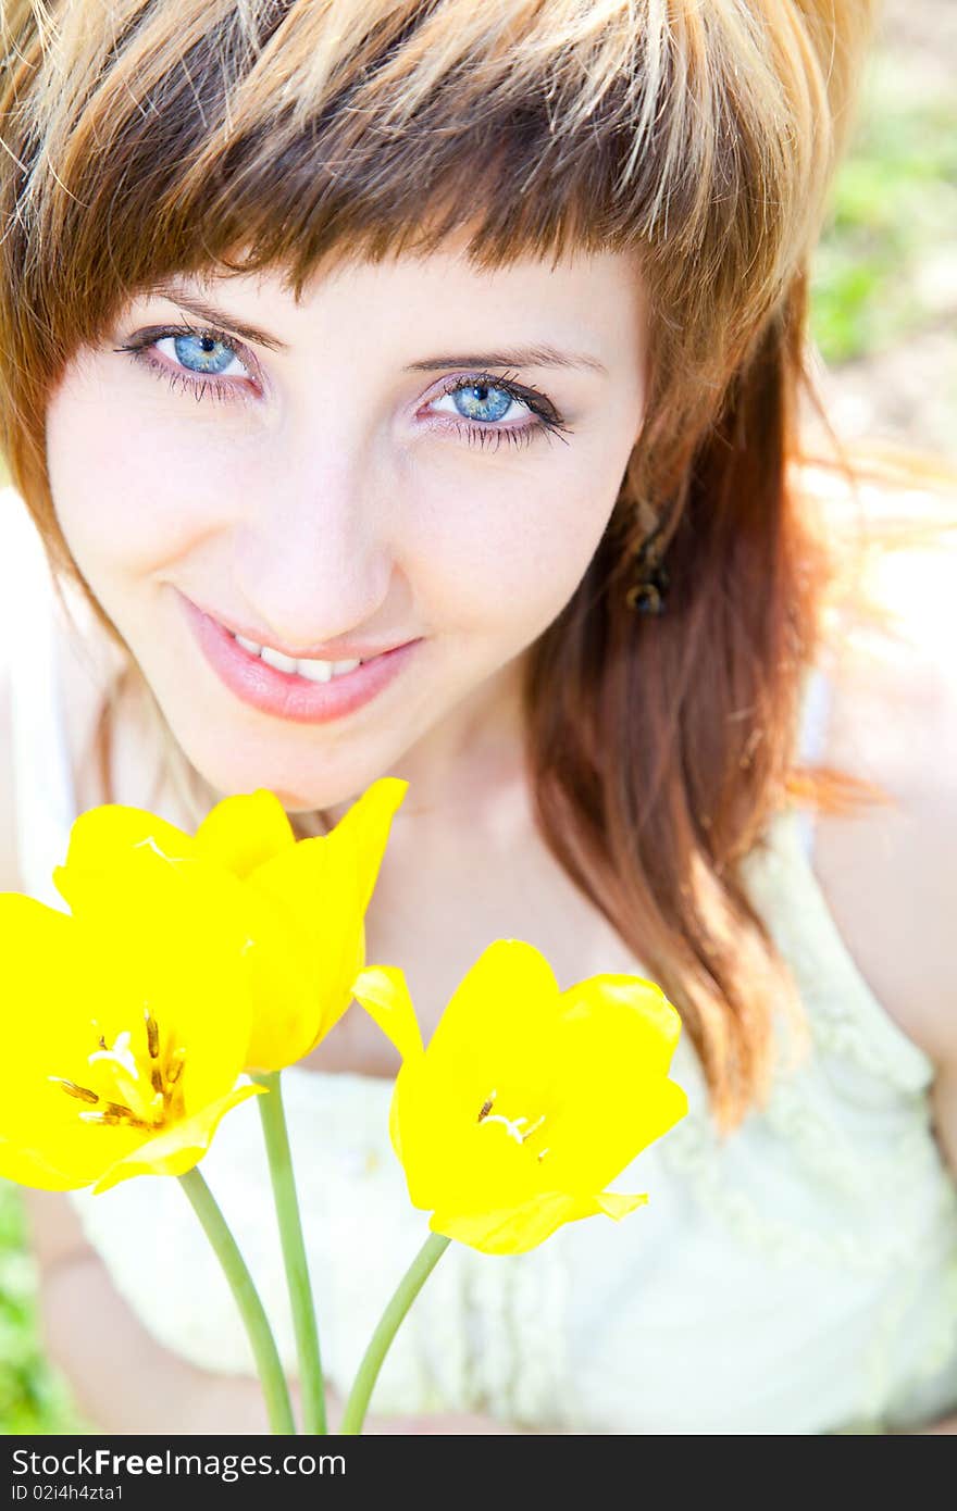
[[296,1334],[299,1384],[302,1387],[302,1423],[307,1432],[325,1432],[325,1387],[322,1384],[322,1358],[319,1357],[319,1331],[316,1328],[313,1287],[305,1260],[305,1244],[302,1242],[296,1177],[292,1168],[280,1073],[278,1070],[271,1073],[263,1071],[252,1079],[260,1086],[269,1089],[269,1095],[257,1097],[256,1100],[266,1141],[266,1156],[272,1177],[272,1198],[280,1224],[286,1284],[289,1286],[292,1325]]

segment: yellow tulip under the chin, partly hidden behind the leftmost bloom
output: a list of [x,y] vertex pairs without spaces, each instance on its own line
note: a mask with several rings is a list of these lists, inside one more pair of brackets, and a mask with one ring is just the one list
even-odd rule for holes
[[142,808],[104,804],[76,820],[67,864],[53,879],[67,902],[74,878],[89,895],[132,846],[222,867],[239,884],[249,941],[254,1015],[245,1065],[277,1071],[308,1055],[352,1000],[366,961],[366,908],[407,789],[392,777],[372,783],[330,834],[308,840],[296,840],[265,789],[224,798],[195,836]]

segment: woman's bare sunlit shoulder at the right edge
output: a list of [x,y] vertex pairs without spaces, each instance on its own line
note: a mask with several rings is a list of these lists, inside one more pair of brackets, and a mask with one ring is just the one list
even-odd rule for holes
[[889,802],[819,817],[815,872],[877,999],[957,1070],[957,508],[931,500],[927,520],[943,527],[912,515],[897,544],[868,556],[880,621],[845,626],[830,644],[821,760],[877,783]]

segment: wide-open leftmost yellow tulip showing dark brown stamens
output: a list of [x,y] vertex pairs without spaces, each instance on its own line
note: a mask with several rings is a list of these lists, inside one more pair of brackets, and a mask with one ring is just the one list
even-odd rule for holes
[[181,1176],[240,1083],[252,1002],[237,882],[150,848],[116,857],[73,916],[0,895],[6,993],[0,1176],[106,1191]]

